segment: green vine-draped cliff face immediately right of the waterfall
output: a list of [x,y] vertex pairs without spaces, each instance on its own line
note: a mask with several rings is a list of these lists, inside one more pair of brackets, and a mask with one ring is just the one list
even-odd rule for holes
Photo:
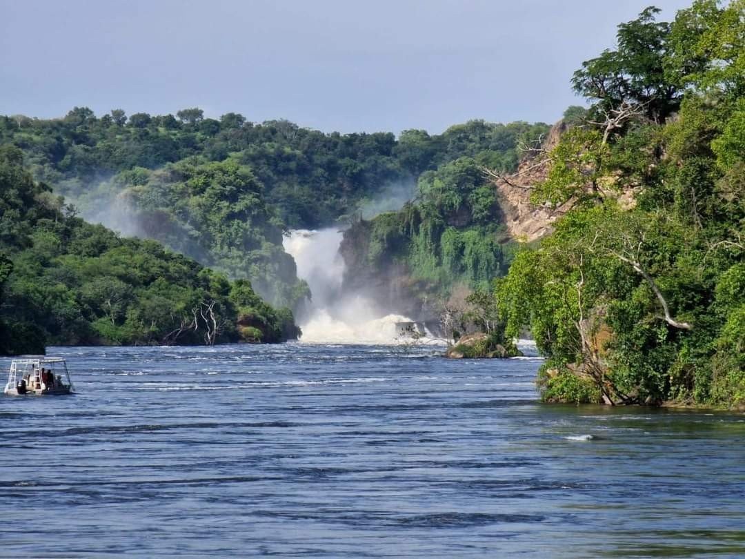
[[460,157],[423,173],[415,200],[398,212],[346,230],[344,286],[373,285],[390,312],[404,306],[431,320],[454,286],[488,291],[506,273],[513,246],[478,158]]

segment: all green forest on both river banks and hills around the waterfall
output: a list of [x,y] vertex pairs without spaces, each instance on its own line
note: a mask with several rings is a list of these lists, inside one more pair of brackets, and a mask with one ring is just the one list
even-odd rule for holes
[[297,338],[282,238],[335,225],[344,288],[439,320],[452,356],[530,331],[545,402],[742,409],[745,0],[658,14],[574,72],[589,107],[551,129],[0,116],[0,354]]

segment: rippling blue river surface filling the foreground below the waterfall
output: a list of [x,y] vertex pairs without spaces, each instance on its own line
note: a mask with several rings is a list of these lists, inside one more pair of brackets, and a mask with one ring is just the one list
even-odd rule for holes
[[743,414],[428,353],[50,349],[78,394],[0,399],[0,555],[745,556]]

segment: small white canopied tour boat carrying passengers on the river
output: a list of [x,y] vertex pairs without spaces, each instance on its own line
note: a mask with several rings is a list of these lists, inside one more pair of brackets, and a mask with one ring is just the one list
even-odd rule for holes
[[72,394],[74,390],[63,358],[34,357],[13,359],[4,392],[9,396],[44,396]]

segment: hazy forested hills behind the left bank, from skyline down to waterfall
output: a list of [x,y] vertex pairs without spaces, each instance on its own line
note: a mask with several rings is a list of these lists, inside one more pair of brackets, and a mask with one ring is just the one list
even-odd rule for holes
[[209,119],[197,108],[99,118],[76,107],[63,119],[0,117],[0,143],[21,149],[34,178],[89,221],[250,279],[270,303],[297,309],[310,294],[282,249],[283,233],[346,224],[391,196],[399,207],[420,175],[461,157],[511,170],[519,143],[546,128],[469,121],[396,138],[255,124],[236,113]]

